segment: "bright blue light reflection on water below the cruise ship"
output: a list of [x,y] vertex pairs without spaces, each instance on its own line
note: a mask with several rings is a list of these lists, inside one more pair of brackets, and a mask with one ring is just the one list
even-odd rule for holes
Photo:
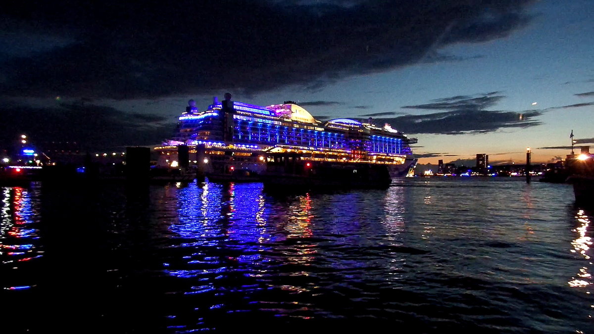
[[[266,228],[261,184],[206,183],[180,189],[177,198],[178,222],[170,230],[184,240],[172,247],[193,251],[182,256],[187,268],[165,263],[170,275],[190,278],[246,272],[245,265],[267,261],[259,253],[273,237]],[[192,265],[200,265],[200,269],[192,269]],[[202,288],[198,292],[210,291],[213,289]]]

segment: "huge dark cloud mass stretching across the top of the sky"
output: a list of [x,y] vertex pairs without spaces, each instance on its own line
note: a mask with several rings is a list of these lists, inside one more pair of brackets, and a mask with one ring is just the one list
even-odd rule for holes
[[[245,94],[418,62],[525,27],[533,0],[12,1],[0,90],[129,99]],[[20,41],[20,42],[19,42]]]

